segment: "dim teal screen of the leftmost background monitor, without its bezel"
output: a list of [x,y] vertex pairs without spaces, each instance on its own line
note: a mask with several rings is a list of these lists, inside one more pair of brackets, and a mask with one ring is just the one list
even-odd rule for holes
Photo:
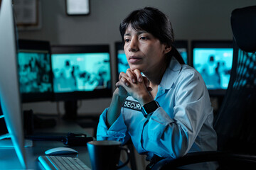
[[21,93],[53,91],[50,74],[49,53],[22,50],[18,52],[18,76]]

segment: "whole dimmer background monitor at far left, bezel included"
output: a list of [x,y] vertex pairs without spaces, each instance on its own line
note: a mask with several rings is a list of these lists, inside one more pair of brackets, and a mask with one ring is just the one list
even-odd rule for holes
[[50,42],[18,40],[18,76],[21,101],[53,101]]

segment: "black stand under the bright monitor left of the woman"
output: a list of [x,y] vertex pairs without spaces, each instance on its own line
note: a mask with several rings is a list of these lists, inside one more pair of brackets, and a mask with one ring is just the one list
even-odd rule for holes
[[65,101],[64,102],[65,115],[64,120],[76,120],[78,117],[78,101]]

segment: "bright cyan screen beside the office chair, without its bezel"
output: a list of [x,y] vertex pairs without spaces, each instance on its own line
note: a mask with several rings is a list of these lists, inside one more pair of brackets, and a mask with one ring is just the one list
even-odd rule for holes
[[233,48],[194,48],[193,67],[201,73],[208,89],[227,89]]

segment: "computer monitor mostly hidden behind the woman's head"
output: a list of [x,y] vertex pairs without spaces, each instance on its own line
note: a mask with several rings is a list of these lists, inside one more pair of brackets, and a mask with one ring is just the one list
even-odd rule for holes
[[[126,72],[129,68],[127,58],[124,54],[124,44],[123,42],[115,42],[115,56],[116,56],[116,70],[117,70],[117,80],[120,72]],[[186,40],[177,40],[174,43],[174,47],[180,52],[181,57],[184,62],[188,64],[188,41]]]

